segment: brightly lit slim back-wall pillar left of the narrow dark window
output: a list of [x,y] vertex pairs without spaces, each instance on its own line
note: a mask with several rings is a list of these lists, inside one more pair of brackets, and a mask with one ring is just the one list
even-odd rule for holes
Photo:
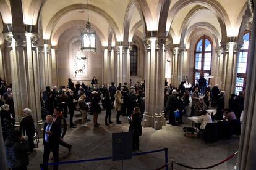
[[119,46],[117,47],[117,56],[116,56],[116,84],[119,84],[119,83],[124,83],[123,82],[123,63],[122,63],[122,60],[123,60],[123,50],[122,50],[122,42],[119,42]]

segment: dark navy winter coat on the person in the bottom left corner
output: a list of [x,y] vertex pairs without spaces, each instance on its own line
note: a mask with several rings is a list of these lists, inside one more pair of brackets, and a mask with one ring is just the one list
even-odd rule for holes
[[9,168],[17,168],[29,164],[27,141],[20,142],[15,139],[7,139],[4,147],[6,148],[6,161]]

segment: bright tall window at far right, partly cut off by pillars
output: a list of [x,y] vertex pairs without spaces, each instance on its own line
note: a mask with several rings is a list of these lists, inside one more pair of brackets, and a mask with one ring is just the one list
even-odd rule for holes
[[247,57],[248,57],[249,40],[250,40],[249,31],[245,31],[243,39],[244,39],[244,44],[241,50],[239,51],[239,57],[238,57],[236,94],[238,94],[239,91],[245,91],[246,73],[247,73]]

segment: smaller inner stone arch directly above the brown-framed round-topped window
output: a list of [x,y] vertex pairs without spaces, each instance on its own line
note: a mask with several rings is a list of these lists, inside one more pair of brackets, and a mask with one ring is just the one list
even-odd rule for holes
[[211,25],[210,23],[207,22],[199,22],[195,23],[194,25],[190,26],[190,28],[186,31],[186,33],[182,34],[181,37],[181,46],[183,46],[186,43],[189,43],[191,34],[193,33],[194,30],[197,28],[203,28],[207,31],[209,31],[213,35],[213,42],[215,42],[216,46],[220,44],[220,34],[218,33],[218,30]]

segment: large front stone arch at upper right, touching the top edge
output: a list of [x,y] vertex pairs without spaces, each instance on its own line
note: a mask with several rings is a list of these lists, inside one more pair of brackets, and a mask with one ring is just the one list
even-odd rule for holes
[[178,1],[174,6],[169,10],[168,14],[168,20],[166,24],[166,30],[170,30],[171,23],[173,22],[173,18],[175,17],[175,14],[179,12],[182,8],[189,4],[202,4],[202,6],[207,7],[213,14],[216,15],[218,18],[218,22],[221,26],[221,34],[222,34],[222,41],[226,41],[227,39],[227,28],[231,26],[231,22],[229,20],[228,14],[226,13],[226,10],[224,10],[223,6],[217,1],[211,1],[211,0],[184,0],[184,1]]

